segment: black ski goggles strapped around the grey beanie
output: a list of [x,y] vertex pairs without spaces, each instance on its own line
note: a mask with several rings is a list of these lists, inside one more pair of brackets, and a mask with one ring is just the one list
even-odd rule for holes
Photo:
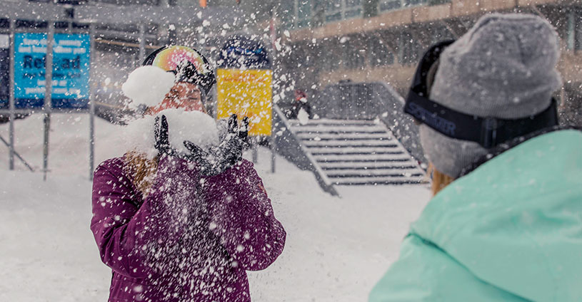
[[447,137],[477,142],[487,149],[515,137],[558,125],[557,101],[554,98],[541,113],[518,119],[468,115],[431,100],[428,97],[428,74],[434,64],[438,64],[443,50],[453,42],[454,40],[448,40],[436,43],[424,53],[416,68],[404,113]]

